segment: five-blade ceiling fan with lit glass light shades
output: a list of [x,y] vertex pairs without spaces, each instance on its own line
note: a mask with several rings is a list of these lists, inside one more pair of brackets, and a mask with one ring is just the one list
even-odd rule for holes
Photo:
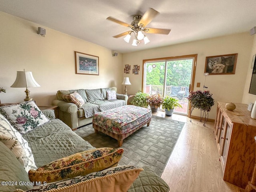
[[156,33],[156,34],[166,34],[168,35],[170,33],[170,29],[158,29],[158,28],[148,28],[146,27],[147,24],[149,24],[154,17],[156,17],[156,15],[158,15],[159,12],[149,8],[146,13],[144,13],[143,16],[141,15],[135,15],[134,16],[134,20],[132,21],[131,24],[122,22],[120,20],[117,20],[115,18],[112,17],[108,17],[107,19],[113,22],[116,22],[120,25],[129,27],[131,30],[123,32],[121,34],[115,35],[113,36],[114,38],[119,38],[122,36],[126,37],[124,38],[125,42],[129,42],[130,38],[131,38],[131,34],[134,33],[134,40],[132,42],[133,46],[137,46],[138,44],[140,44],[140,40],[144,40],[144,44],[148,44],[150,42],[150,40],[148,39],[148,37],[146,35],[143,34],[143,32],[146,33]]

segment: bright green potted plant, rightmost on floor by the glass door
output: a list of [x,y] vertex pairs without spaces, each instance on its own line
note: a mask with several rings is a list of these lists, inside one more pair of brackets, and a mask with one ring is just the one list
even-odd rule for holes
[[166,116],[172,116],[174,109],[176,109],[177,107],[182,108],[182,106],[179,104],[178,99],[171,96],[166,96],[164,98],[162,108],[164,109]]

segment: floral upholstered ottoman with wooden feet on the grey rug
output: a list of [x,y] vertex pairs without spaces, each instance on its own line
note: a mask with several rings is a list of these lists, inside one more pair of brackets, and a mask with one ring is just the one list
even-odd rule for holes
[[151,121],[151,110],[148,108],[125,105],[94,114],[92,126],[98,131],[116,139],[118,146],[123,140]]

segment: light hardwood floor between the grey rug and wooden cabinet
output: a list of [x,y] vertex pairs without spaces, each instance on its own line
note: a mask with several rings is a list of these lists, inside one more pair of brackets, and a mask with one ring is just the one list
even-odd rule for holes
[[241,188],[223,180],[222,167],[214,138],[214,122],[203,122],[164,112],[153,114],[186,122],[166,164],[162,179],[170,192],[239,192]]

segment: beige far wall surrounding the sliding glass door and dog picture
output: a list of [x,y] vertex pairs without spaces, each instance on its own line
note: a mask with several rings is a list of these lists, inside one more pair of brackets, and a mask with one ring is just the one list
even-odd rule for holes
[[[170,35],[172,34],[170,33]],[[208,86],[208,89],[206,90],[210,90],[213,94],[215,103],[217,101],[240,103],[244,95],[244,85],[246,83],[248,67],[251,62],[252,44],[253,36],[250,36],[250,34],[246,32],[124,54],[123,68],[126,64],[131,65],[131,68],[133,68],[133,65],[140,66],[138,75],[132,73],[123,74],[123,76],[130,78],[132,84],[127,86],[128,94],[135,94],[138,90],[142,89],[142,60],[144,59],[198,54],[194,84],[195,91],[203,89],[206,56],[238,53],[235,74],[207,76],[206,86]],[[196,88],[197,82],[201,83],[200,88]],[[252,101],[254,102],[254,100]],[[245,100],[246,103],[248,101],[249,100]],[[250,100],[250,102],[252,101]],[[194,110],[192,115],[200,116],[200,111]],[[214,119],[215,116],[216,104],[214,104],[210,111],[209,118]]]

